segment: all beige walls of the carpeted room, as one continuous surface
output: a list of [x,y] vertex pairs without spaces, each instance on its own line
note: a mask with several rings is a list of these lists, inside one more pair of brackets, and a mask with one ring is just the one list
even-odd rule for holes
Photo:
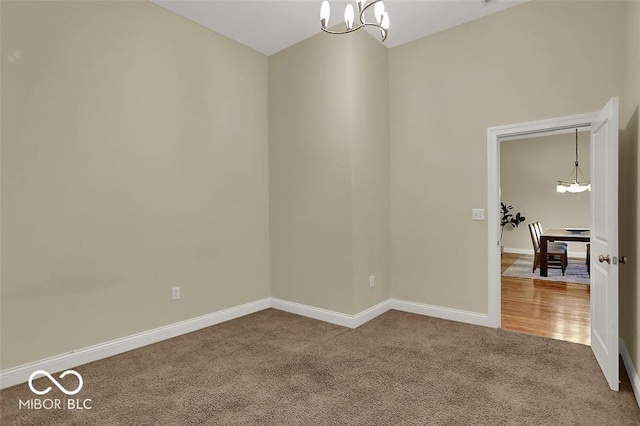
[[[149,3],[1,6],[2,369],[269,295],[486,312],[487,127],[620,95],[638,181],[638,2],[530,2],[389,51],[321,34],[268,60]],[[639,186],[621,183],[631,259]],[[632,262],[636,367],[637,286]]]

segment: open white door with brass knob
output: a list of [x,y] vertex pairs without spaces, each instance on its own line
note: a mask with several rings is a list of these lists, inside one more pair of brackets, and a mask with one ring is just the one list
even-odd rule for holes
[[591,349],[618,390],[618,98],[591,123]]

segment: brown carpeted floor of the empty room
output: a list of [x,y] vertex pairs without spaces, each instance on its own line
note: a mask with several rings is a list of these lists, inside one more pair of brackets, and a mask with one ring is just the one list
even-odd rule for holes
[[18,409],[23,384],[0,392],[1,423],[640,423],[628,383],[610,391],[587,346],[398,311],[350,330],[267,309],[76,370],[91,410]]

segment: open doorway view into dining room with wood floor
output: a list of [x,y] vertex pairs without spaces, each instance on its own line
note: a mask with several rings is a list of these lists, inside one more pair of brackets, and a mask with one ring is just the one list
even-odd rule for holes
[[582,170],[588,177],[589,145],[588,127],[500,140],[500,201],[510,209],[506,214],[511,218],[524,218],[501,229],[502,328],[590,344],[586,243],[560,243],[566,246],[567,265],[540,277],[533,256],[537,238],[530,229],[534,223],[545,230],[589,228],[590,191],[556,191],[556,181],[568,180],[568,175],[574,178],[576,156],[579,179],[584,180]]

